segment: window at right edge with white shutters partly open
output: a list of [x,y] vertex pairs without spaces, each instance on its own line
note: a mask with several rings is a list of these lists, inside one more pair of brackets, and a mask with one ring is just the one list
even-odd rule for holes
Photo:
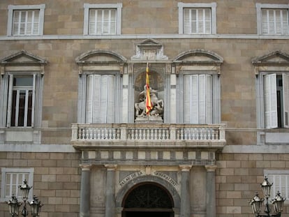
[[265,128],[289,128],[289,75],[277,76],[264,75]]

